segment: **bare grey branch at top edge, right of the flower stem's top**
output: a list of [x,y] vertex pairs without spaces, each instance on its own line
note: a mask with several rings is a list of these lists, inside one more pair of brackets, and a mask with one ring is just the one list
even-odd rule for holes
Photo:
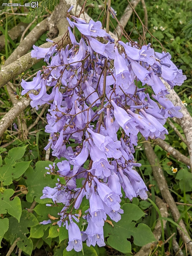
[[[133,6],[133,8],[135,8],[140,1],[141,0],[132,0],[131,5]],[[131,6],[128,4],[120,21],[119,21],[119,23],[122,25],[123,29],[127,25],[127,22],[129,21],[132,13],[133,13],[133,10],[132,10]],[[119,25],[116,27],[116,31],[119,35],[121,35],[121,28],[119,27]],[[113,33],[115,34],[115,31],[113,31]]]

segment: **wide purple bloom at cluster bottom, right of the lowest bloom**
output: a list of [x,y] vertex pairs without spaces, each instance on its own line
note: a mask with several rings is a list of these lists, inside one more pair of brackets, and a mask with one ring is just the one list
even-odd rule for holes
[[88,222],[88,226],[85,231],[83,231],[82,241],[85,241],[87,246],[95,246],[96,243],[99,247],[105,246],[103,227],[98,227],[93,221]]

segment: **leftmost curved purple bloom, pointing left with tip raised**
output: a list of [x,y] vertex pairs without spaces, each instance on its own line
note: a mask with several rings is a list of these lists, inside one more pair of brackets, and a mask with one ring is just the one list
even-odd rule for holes
[[37,76],[33,78],[33,81],[26,82],[22,79],[21,87],[23,87],[23,91],[21,92],[21,95],[26,94],[30,90],[39,90],[41,89],[42,83],[45,81],[44,79],[41,79],[41,70],[38,71]]

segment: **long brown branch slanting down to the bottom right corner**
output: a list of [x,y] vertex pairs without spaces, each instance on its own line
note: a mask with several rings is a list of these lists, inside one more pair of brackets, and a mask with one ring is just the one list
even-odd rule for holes
[[[153,177],[157,181],[157,185],[159,187],[159,190],[161,191],[162,197],[164,201],[167,203],[167,205],[169,206],[169,210],[171,212],[171,215],[174,221],[177,222],[180,219],[181,215],[168,189],[163,170],[161,169],[161,166],[157,164],[157,162],[155,161],[155,159],[157,159],[158,161],[157,155],[154,153],[153,147],[149,142],[144,142],[143,147],[145,150],[146,157],[151,165],[151,168],[153,171]],[[178,224],[179,226],[181,226],[181,228],[184,231],[183,232],[179,227],[177,227],[178,233],[182,238],[183,242],[186,243],[187,250],[189,251],[189,254],[192,256],[192,241],[189,238],[185,224],[182,219],[179,221]]]

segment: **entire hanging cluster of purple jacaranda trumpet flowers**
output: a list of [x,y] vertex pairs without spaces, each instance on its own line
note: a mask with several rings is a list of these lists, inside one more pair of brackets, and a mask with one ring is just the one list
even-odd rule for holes
[[[87,23],[74,16],[67,20],[64,39],[69,44],[65,48],[54,42],[47,49],[34,46],[31,56],[45,58],[47,66],[33,81],[22,80],[21,85],[22,95],[32,89],[39,91],[38,95],[29,94],[32,107],[50,104],[45,131],[51,137],[45,150],[51,147],[53,156],[66,160],[47,170],[66,182],[62,184],[58,178],[54,188],[44,187],[41,198],[51,198],[53,205],[63,204],[58,225],[69,231],[67,250],[81,251],[82,241],[87,246],[105,245],[107,215],[118,222],[123,213],[121,188],[130,200],[147,198],[147,187],[134,169],[140,166],[133,156],[137,135],[165,139],[166,118],[181,118],[182,113],[166,98],[168,91],[161,78],[172,89],[186,77],[169,53],[154,52],[150,43],[142,47],[114,43],[99,21]],[[82,35],[79,42],[72,33],[74,27]],[[50,94],[47,86],[52,88]],[[77,143],[76,149],[70,142]],[[77,187],[80,178],[82,185]],[[84,197],[89,201],[83,215],[88,225],[80,231],[76,210]]]

